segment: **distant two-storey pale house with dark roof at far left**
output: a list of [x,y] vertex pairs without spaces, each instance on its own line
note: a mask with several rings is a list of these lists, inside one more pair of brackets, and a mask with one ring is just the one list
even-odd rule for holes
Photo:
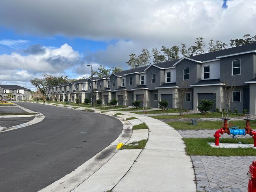
[[11,100],[31,100],[32,97],[30,91],[30,89],[20,87],[19,85],[0,85],[0,100],[8,101],[8,93],[13,94],[13,98],[11,98]]

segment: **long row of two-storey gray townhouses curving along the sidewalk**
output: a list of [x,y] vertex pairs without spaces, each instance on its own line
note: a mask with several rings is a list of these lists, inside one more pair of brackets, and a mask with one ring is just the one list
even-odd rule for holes
[[[47,90],[58,101],[67,98],[75,102],[91,98],[103,104],[112,98],[118,105],[132,105],[142,100],[142,105],[158,107],[158,100],[167,99],[168,108],[197,111],[198,100],[214,100],[215,108],[227,109],[226,90],[234,87],[230,109],[239,113],[247,109],[256,113],[256,43],[238,46],[192,57],[158,63],[140,68],[112,73],[109,76],[82,79],[49,87]],[[180,90],[186,89],[185,96]],[[184,99],[181,102],[181,98]]]

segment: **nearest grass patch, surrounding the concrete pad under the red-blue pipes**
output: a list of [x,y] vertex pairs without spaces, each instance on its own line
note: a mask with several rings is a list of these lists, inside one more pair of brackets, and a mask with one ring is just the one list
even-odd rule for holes
[[[215,142],[215,138],[183,138],[186,144],[187,155],[208,155],[208,156],[255,156],[256,148],[212,148],[208,142]],[[252,138],[232,139],[223,138],[220,143],[247,143],[253,144]]]

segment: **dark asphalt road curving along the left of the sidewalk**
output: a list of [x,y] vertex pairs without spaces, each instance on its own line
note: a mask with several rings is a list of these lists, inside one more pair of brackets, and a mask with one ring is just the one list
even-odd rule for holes
[[111,116],[37,103],[45,115],[32,126],[0,133],[0,191],[36,192],[106,148],[122,131]]

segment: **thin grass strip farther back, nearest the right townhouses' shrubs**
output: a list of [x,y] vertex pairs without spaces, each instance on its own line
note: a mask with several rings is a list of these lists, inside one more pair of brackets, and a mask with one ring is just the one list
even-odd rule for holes
[[[221,113],[196,113],[196,114],[184,114],[183,116],[180,115],[157,115],[157,116],[150,116],[155,119],[178,119],[178,118],[222,118]],[[230,114],[230,117],[242,117],[235,114]]]

